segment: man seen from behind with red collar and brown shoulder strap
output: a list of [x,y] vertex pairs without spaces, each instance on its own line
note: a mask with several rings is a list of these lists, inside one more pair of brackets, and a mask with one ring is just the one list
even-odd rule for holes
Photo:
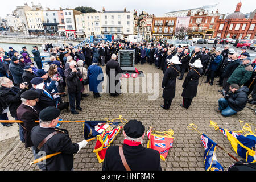
[[[130,168],[131,171],[161,171],[159,152],[142,146],[145,135],[145,127],[142,123],[130,120],[123,130],[125,137],[123,146],[108,147],[102,170],[125,171]],[[123,159],[127,164],[122,162]]]

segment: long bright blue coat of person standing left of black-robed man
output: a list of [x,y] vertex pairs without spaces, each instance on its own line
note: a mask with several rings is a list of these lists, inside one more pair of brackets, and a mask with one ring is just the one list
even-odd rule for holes
[[[102,92],[101,82],[104,80],[102,68],[98,65],[90,65],[87,71],[87,78],[89,79],[90,91],[99,93]],[[98,75],[102,74],[101,80],[98,80]],[[100,79],[100,78],[99,78]]]

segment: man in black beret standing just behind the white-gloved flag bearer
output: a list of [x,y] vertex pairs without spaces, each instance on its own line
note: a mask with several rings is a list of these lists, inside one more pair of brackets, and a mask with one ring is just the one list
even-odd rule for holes
[[35,121],[39,119],[39,111],[34,106],[38,102],[39,96],[39,93],[32,90],[27,90],[20,95],[22,104],[17,109],[17,119],[23,121],[20,125],[23,127],[25,148],[32,146],[30,132],[34,126],[38,125]]

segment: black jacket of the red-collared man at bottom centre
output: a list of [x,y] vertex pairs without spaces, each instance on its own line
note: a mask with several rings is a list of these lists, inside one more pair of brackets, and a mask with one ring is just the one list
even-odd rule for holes
[[[162,171],[160,154],[151,148],[123,144],[123,154],[131,171]],[[106,151],[102,171],[125,171],[119,155],[119,146],[109,146]]]

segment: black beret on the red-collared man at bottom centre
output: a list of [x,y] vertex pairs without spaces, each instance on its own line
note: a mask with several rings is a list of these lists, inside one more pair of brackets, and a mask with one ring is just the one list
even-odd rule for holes
[[139,138],[144,134],[145,127],[142,122],[137,120],[130,120],[123,127],[125,134],[130,138]]

